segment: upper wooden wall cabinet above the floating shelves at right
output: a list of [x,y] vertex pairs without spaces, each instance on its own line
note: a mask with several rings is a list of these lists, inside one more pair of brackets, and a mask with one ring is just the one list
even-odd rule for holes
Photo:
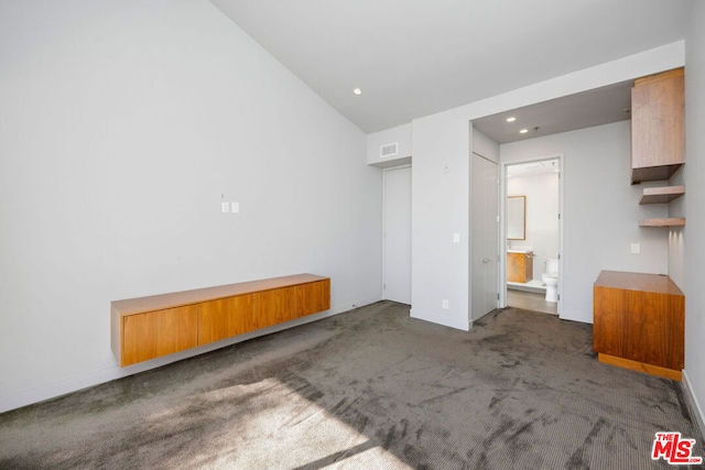
[[637,79],[631,89],[631,183],[669,179],[684,163],[683,67]]

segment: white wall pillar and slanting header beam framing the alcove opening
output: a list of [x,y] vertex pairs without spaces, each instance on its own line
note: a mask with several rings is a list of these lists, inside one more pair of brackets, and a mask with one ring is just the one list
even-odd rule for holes
[[[468,282],[471,120],[680,67],[684,61],[684,43],[677,42],[414,120],[412,315],[468,328],[468,306],[471,305]],[[589,161],[585,165],[589,165]],[[628,173],[621,177],[628,182]],[[589,196],[599,190],[599,186],[578,184],[581,186],[576,188],[583,194],[583,199],[577,201],[581,208],[590,204]],[[633,217],[630,223],[636,226],[636,220]],[[595,221],[598,222],[599,219]],[[452,242],[453,232],[460,233],[460,243]],[[573,251],[581,249],[570,248]],[[621,249],[616,247],[614,250]],[[447,310],[442,309],[444,298],[449,300]],[[583,300],[572,315],[587,320],[592,318],[592,311],[588,314],[590,304],[586,298]]]

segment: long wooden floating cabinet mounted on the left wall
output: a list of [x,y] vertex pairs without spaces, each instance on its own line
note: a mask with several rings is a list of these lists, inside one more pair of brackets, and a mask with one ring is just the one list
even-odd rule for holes
[[297,274],[111,303],[112,351],[134,364],[330,308],[330,278]]

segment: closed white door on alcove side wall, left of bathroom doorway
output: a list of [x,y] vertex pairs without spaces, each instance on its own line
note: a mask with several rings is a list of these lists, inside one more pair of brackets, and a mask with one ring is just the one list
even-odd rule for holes
[[499,300],[499,179],[498,165],[473,154],[473,311],[476,320]]

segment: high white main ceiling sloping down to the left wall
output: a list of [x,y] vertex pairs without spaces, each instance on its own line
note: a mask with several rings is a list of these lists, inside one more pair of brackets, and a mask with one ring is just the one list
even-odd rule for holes
[[[210,1],[368,133],[680,41],[691,6],[691,0]],[[352,94],[356,87],[360,96]]]

